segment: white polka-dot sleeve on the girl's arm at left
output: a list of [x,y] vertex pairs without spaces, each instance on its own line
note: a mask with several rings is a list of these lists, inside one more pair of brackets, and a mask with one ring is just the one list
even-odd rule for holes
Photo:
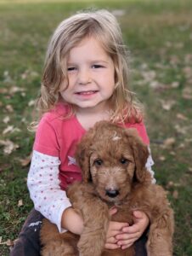
[[34,150],[27,186],[35,209],[56,224],[59,232],[64,232],[61,228],[61,217],[65,209],[71,207],[71,202],[59,186],[59,165],[58,157]]

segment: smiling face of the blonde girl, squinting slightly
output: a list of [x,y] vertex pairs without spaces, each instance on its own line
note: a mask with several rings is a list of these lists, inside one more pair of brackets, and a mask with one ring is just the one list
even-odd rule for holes
[[[67,60],[69,84],[61,84],[60,94],[76,110],[103,111],[115,89],[115,67],[99,41],[85,38],[72,48]],[[62,89],[63,88],[63,89]]]

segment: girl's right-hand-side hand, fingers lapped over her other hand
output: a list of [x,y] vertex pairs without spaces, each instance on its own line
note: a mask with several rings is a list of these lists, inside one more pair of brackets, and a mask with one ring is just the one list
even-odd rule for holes
[[144,212],[135,211],[133,212],[134,224],[122,228],[122,234],[115,236],[117,245],[122,249],[126,249],[133,245],[133,242],[137,241],[140,236],[143,235],[144,230],[150,223],[149,218]]

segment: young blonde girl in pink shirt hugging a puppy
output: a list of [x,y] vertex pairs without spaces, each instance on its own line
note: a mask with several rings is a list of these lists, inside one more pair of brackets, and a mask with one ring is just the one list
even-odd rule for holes
[[[27,218],[11,255],[40,253],[43,216],[59,232],[81,235],[82,218],[73,210],[66,187],[81,180],[74,158],[76,143],[99,120],[134,127],[144,143],[149,139],[143,112],[128,90],[127,51],[116,18],[106,10],[78,13],[62,21],[48,44],[37,101],[37,125],[28,188],[35,209]],[[148,169],[153,162],[148,160]],[[40,213],[41,212],[41,213]],[[110,210],[114,214],[116,208]],[[122,249],[136,241],[136,254],[145,255],[149,225],[144,212],[133,212],[135,223],[110,222],[105,247]],[[142,236],[144,237],[144,236]]]

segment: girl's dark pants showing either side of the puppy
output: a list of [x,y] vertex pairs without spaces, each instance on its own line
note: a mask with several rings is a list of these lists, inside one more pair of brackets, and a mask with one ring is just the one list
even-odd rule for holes
[[[42,214],[36,210],[31,210],[28,218],[25,220],[18,241],[16,241],[10,256],[40,256],[39,232],[42,225]],[[147,256],[145,243],[147,237],[141,236],[135,243],[135,256]]]

